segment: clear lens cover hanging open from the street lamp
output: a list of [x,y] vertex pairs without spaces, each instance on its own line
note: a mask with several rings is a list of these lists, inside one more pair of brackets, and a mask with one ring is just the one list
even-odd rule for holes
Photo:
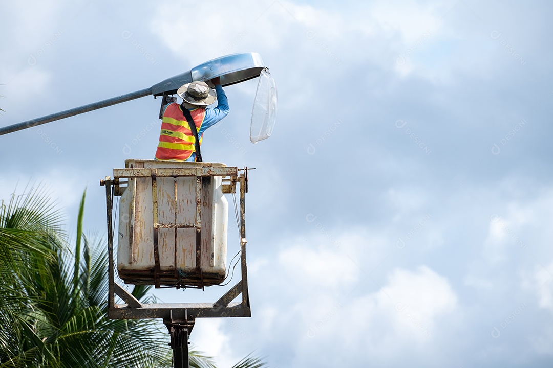
[[269,138],[276,120],[276,84],[267,69],[261,71],[252,109],[249,140],[257,143]]

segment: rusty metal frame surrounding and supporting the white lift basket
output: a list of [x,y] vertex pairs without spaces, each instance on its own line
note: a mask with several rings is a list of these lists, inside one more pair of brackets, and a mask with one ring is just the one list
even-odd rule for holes
[[[242,172],[239,174],[239,172]],[[114,259],[113,259],[113,226],[112,209],[114,196],[119,196],[123,188],[119,184],[123,178],[155,178],[158,177],[196,177],[197,189],[201,190],[202,177],[223,177],[223,193],[236,193],[236,184],[239,183],[240,190],[240,248],[241,248],[241,274],[242,279],[228,290],[219,300],[214,303],[142,303],[132,296],[121,285],[114,281]],[[114,169],[113,179],[106,177],[100,181],[100,185],[106,187],[106,214],[108,230],[108,318],[111,319],[140,319],[140,318],[163,318],[164,323],[170,326],[189,326],[187,333],[194,326],[196,318],[220,318],[220,317],[251,317],[251,308],[248,296],[248,275],[246,264],[246,211],[244,196],[247,193],[248,168],[238,169],[236,167],[197,167],[197,168],[131,168]],[[227,178],[228,177],[228,178]],[[176,189],[175,189],[176,190]],[[197,194],[197,193],[196,193]],[[197,194],[198,195],[198,194]],[[201,195],[197,203],[201,202]],[[154,211],[155,215],[155,211]],[[199,214],[201,215],[201,214]],[[157,217],[157,216],[155,216]],[[154,218],[154,226],[165,227],[167,224],[159,224]],[[156,224],[157,223],[157,224]],[[173,226],[173,224],[170,224]],[[201,231],[200,216],[196,217],[195,224],[175,224],[179,227],[196,227],[197,236]],[[191,226],[189,226],[191,225]],[[157,262],[156,262],[157,263]],[[200,264],[196,262],[196,266]],[[232,302],[242,294],[240,302]],[[119,296],[125,303],[116,304],[115,295]]]

